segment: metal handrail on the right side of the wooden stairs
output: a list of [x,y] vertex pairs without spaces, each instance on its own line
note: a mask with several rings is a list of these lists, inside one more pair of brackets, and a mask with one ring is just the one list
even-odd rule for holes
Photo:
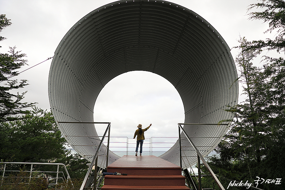
[[[181,135],[180,135],[180,129],[182,130],[182,132],[185,134],[186,138],[188,139],[188,141],[190,142],[190,144],[192,145],[192,147],[196,150],[197,155],[198,155],[198,164],[199,162],[199,158],[202,160],[202,162],[204,163],[205,167],[209,170],[210,174],[212,175],[212,177],[214,178],[214,180],[216,181],[216,183],[218,184],[219,188],[222,190],[225,190],[225,188],[223,187],[223,185],[221,184],[221,182],[219,181],[219,179],[217,178],[217,176],[215,175],[215,173],[213,172],[213,170],[210,168],[210,166],[208,165],[208,163],[206,162],[206,160],[204,159],[204,157],[202,156],[202,154],[200,153],[200,151],[197,149],[197,147],[194,145],[194,143],[192,142],[191,138],[188,136],[188,134],[184,131],[183,127],[181,125],[229,125],[229,124],[178,124],[178,130],[179,130],[179,147],[180,147],[180,166],[182,167],[182,155],[181,155]],[[200,182],[199,182],[200,183]],[[200,184],[199,184],[200,185]]]

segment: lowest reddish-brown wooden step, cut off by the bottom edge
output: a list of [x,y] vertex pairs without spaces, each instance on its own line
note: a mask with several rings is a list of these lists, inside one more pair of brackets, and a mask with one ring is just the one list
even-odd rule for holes
[[114,185],[104,185],[101,189],[105,190],[148,190],[148,189],[155,189],[155,190],[185,190],[188,187],[184,186],[114,186]]

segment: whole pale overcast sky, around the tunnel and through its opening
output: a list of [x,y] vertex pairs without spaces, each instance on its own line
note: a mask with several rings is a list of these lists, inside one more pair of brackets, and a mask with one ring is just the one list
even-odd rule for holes
[[[16,46],[27,54],[29,66],[49,57],[66,32],[89,12],[113,0],[0,0],[0,14],[13,23],[2,31],[1,53]],[[249,41],[265,39],[267,23],[248,20],[247,7],[255,0],[172,0],[207,20],[225,39],[229,47],[238,45],[240,36]],[[231,51],[237,55],[236,50]],[[35,66],[17,78],[29,80],[25,102],[50,110],[47,81],[51,60]],[[241,88],[240,88],[241,91]],[[178,92],[167,80],[150,72],[129,72],[110,81],[95,104],[94,121],[111,122],[111,136],[132,138],[138,124],[146,137],[177,137],[178,123],[184,122],[184,108]],[[103,127],[102,127],[103,128]],[[105,130],[105,129],[104,129]],[[97,129],[99,133],[100,129]]]

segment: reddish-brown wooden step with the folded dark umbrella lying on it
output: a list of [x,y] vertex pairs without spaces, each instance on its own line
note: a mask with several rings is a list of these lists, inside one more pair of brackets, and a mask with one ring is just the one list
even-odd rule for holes
[[105,175],[105,185],[115,186],[185,186],[182,175]]

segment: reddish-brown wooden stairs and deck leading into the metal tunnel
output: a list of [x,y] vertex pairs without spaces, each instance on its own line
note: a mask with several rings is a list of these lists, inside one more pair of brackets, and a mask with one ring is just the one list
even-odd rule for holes
[[107,172],[128,175],[105,175],[101,189],[189,189],[185,186],[181,167],[156,156],[123,156],[110,164]]

